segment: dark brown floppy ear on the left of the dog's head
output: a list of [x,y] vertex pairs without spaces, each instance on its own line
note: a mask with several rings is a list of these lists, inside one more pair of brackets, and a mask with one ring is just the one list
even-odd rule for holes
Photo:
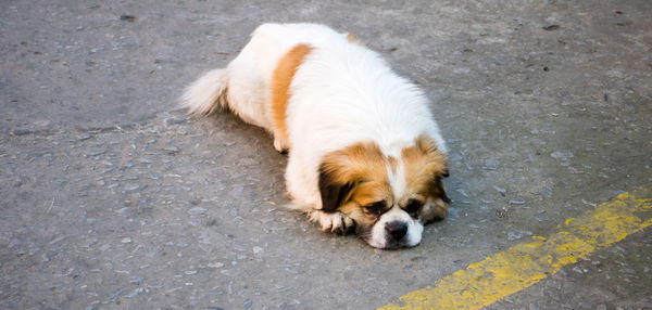
[[322,195],[322,210],[326,212],[336,211],[350,198],[355,182],[342,182],[338,180],[337,171],[327,169],[324,165],[319,167],[319,194]]

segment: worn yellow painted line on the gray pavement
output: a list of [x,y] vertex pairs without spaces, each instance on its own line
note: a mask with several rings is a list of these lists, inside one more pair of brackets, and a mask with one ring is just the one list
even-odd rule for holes
[[652,225],[652,190],[618,195],[503,253],[472,263],[431,286],[379,309],[480,309],[586,258],[592,251]]

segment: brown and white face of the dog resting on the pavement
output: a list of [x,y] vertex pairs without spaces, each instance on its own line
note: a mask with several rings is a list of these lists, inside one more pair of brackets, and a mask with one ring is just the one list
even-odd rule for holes
[[448,212],[443,177],[447,157],[425,135],[397,157],[373,142],[358,143],[324,156],[322,209],[349,216],[355,233],[373,247],[415,246],[424,224]]

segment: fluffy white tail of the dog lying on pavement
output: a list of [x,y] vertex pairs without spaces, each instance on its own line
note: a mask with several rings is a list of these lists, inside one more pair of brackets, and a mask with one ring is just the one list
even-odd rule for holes
[[227,69],[214,69],[186,87],[179,99],[180,106],[189,114],[209,115],[227,105]]

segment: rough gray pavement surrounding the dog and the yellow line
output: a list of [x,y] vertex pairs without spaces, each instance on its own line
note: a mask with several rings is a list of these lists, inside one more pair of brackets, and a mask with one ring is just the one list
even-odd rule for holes
[[[0,308],[372,309],[652,182],[652,2],[0,3]],[[450,217],[376,250],[285,210],[267,133],[183,87],[263,22],[355,34],[432,101]],[[652,309],[652,232],[490,309]]]

